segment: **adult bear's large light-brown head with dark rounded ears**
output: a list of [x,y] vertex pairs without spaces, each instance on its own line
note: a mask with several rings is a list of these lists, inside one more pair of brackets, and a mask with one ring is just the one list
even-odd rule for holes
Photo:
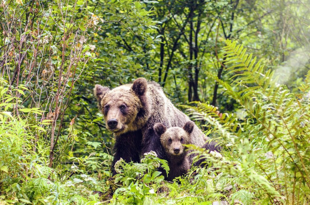
[[116,134],[140,129],[148,120],[147,85],[144,78],[112,90],[95,85],[98,108],[104,114],[107,129]]

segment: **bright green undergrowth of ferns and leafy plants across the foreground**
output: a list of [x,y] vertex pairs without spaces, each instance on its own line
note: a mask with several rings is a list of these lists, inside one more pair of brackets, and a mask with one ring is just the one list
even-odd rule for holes
[[[27,88],[2,79],[0,204],[308,204],[310,72],[293,93],[244,46],[225,43],[225,71],[232,77],[224,81],[216,73],[206,74],[236,101],[242,118],[220,113],[208,102],[183,106],[223,150],[208,154],[189,146],[208,164],[173,182],[157,171],[162,166],[169,172],[169,167],[154,152],[146,153],[141,163],[118,161],[118,174],[110,178],[111,153],[75,126],[78,117],[61,135],[50,166],[52,119],[37,120],[44,111],[23,107],[15,95],[24,95]],[[89,126],[101,119],[98,114]],[[110,187],[112,198],[99,193]]]

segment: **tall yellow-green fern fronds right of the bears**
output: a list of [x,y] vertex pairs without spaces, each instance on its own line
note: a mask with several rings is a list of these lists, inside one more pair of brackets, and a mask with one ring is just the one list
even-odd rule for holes
[[[300,90],[303,95],[297,98],[286,86],[277,83],[271,70],[264,70],[261,60],[256,62],[256,58],[246,54],[242,45],[230,40],[226,40],[226,44],[225,65],[229,65],[226,70],[235,75],[228,83],[209,74],[238,102],[246,120],[230,123],[213,107],[202,107],[203,104],[189,107],[193,118],[206,121],[206,132],[225,142],[231,156],[230,159],[223,156],[222,162],[235,163],[236,170],[228,166],[230,163],[216,165],[214,162],[215,166],[238,177],[238,185],[247,189],[251,186],[254,198],[304,203],[310,197],[308,76]],[[250,203],[251,194],[246,190],[237,193],[232,199],[239,197],[243,203]]]

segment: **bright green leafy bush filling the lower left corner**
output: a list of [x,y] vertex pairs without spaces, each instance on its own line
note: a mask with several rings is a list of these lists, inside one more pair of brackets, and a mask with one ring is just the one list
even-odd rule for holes
[[[62,169],[49,164],[49,144],[45,142],[47,121],[33,120],[38,109],[20,109],[28,113],[13,116],[7,111],[15,107],[14,90],[6,81],[0,82],[0,193],[4,203],[72,204],[98,199],[91,189],[102,189],[96,178],[87,174],[70,179],[60,176]],[[50,120],[48,120],[50,121]],[[82,164],[82,163],[81,163]],[[87,161],[84,166],[87,166]],[[72,173],[77,166],[72,165]],[[81,184],[83,183],[83,184]]]

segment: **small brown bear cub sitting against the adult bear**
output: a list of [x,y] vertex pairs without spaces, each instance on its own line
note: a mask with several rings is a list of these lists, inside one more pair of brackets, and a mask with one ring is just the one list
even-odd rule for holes
[[184,144],[190,144],[190,134],[193,132],[194,123],[188,121],[183,128],[166,128],[162,123],[156,123],[153,126],[155,133],[160,137],[160,142],[165,151],[166,160],[170,168],[167,181],[172,181],[176,177],[183,176],[190,169],[190,162],[185,151]]

